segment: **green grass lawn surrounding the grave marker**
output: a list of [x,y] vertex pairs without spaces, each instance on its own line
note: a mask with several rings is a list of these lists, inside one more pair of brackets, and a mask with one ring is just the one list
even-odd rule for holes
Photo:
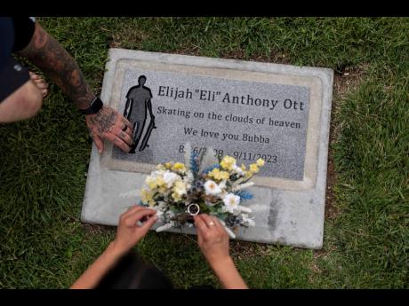
[[[324,248],[232,242],[232,254],[252,287],[408,288],[408,19],[39,20],[96,92],[110,45],[362,71],[357,90],[334,91],[337,213]],[[91,142],[83,116],[51,91],[35,118],[0,126],[2,288],[68,287],[115,235],[80,223]],[[138,249],[178,287],[218,286],[194,237],[150,232]]]

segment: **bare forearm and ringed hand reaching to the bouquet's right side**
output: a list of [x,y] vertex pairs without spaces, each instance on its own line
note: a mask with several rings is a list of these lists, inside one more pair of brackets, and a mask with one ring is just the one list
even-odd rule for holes
[[226,289],[248,289],[229,255],[229,234],[214,216],[194,216],[197,243],[221,286]]

